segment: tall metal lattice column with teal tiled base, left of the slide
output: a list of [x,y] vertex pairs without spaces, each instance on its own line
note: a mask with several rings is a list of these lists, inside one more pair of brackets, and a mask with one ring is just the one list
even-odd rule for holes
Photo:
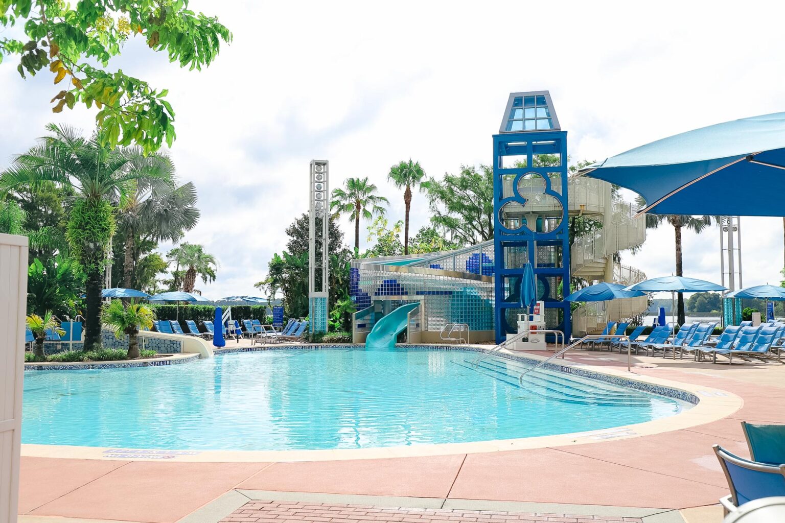
[[308,308],[311,332],[327,332],[327,300],[330,296],[330,191],[327,160],[311,161],[309,184]]

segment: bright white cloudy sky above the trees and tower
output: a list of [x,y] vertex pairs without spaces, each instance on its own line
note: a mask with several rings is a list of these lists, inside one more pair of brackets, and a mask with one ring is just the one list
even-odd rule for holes
[[[331,187],[365,177],[403,219],[391,165],[429,176],[491,162],[510,92],[550,90],[573,162],[652,140],[785,111],[782,2],[210,2],[234,35],[204,71],[180,69],[130,38],[110,67],[169,89],[182,181],[202,218],[185,241],[220,261],[205,296],[260,294],[284,229],[308,209],[309,162],[330,161]],[[765,16],[758,16],[758,15]],[[2,35],[0,35],[2,36]],[[49,74],[23,81],[0,64],[0,169],[47,122],[93,129],[94,111],[49,111]],[[739,184],[751,183],[739,180]],[[785,207],[783,207],[785,209]],[[415,193],[411,231],[429,223]],[[778,283],[783,221],[743,217],[743,284]],[[361,249],[366,245],[361,225]],[[341,220],[347,243],[353,224]],[[166,252],[170,245],[162,245]],[[685,275],[720,281],[719,231],[684,234]],[[625,264],[674,272],[674,231],[649,231]]]

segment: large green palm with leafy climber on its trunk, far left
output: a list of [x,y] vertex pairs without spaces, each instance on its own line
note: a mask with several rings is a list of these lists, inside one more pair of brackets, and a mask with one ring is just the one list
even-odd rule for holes
[[110,150],[100,145],[97,134],[86,139],[71,127],[49,124],[46,129],[51,134],[13,158],[0,175],[0,194],[46,181],[73,187],[66,238],[87,277],[85,350],[94,350],[101,343],[100,289],[116,230],[110,202],[127,198],[133,180],[166,180],[166,162],[158,154],[144,156],[139,147]]

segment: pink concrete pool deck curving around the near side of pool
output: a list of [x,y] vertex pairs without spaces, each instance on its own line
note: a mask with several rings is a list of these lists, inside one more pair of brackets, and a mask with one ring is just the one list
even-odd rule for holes
[[[579,351],[568,355],[568,361],[618,367],[626,365],[626,355]],[[23,456],[19,512],[28,518],[21,521],[39,521],[34,516],[60,516],[174,523],[233,491],[662,509],[703,507],[716,504],[717,499],[728,493],[711,445],[717,443],[740,456],[748,456],[739,426],[741,420],[785,423],[785,365],[728,367],[642,356],[634,357],[634,365],[634,372],[641,376],[726,390],[743,398],[743,406],[711,423],[661,434],[586,445],[448,456],[291,463],[159,463]],[[275,499],[267,501],[275,503]],[[261,514],[272,508],[263,507],[261,501],[249,503],[248,508],[239,510]],[[287,520],[254,514],[235,514],[225,521]],[[376,521],[414,523],[427,519],[392,515],[397,519]],[[575,514],[563,514],[562,519],[553,514],[548,517],[555,518],[550,521],[580,521],[581,518]],[[314,518],[288,519],[331,521],[331,518]],[[531,521],[549,521],[537,519],[536,515],[531,518]],[[527,521],[522,515],[509,520]],[[348,518],[346,523],[349,521],[358,519]],[[595,521],[623,519],[597,517]]]

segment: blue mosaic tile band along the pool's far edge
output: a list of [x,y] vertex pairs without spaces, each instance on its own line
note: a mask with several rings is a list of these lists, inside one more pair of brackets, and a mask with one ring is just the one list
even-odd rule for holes
[[[359,348],[365,347],[361,343],[341,343],[341,344],[305,344],[305,345],[260,345],[258,347],[237,347],[237,348],[223,348],[223,349],[215,349],[214,354],[216,356],[222,354],[232,354],[232,353],[239,353],[239,352],[259,352],[262,350],[302,350],[302,349],[309,349],[309,350],[330,350],[330,349],[345,349],[345,348]],[[464,350],[469,352],[488,352],[490,349],[484,349],[480,347],[469,347],[466,345],[429,345],[429,344],[412,344],[408,345],[405,343],[398,343],[396,347],[405,348],[407,350]],[[515,354],[505,354],[505,353],[496,353],[495,356],[498,358],[506,358],[512,361],[518,361],[519,363],[525,363],[527,365],[537,365],[540,363],[541,360],[535,358],[526,358],[524,356],[517,356]],[[590,380],[597,380],[603,381],[605,383],[611,383],[612,385],[617,385],[619,387],[627,387],[630,389],[641,390],[641,392],[648,392],[649,394],[657,394],[658,396],[664,396],[666,398],[677,399],[680,401],[685,401],[690,405],[698,405],[700,399],[690,392],[686,390],[679,390],[674,389],[673,387],[663,387],[661,385],[655,385],[654,383],[646,383],[643,381],[637,380],[630,380],[629,378],[623,378],[621,376],[612,376],[609,374],[604,374],[602,372],[595,372],[586,369],[576,369],[575,367],[570,367],[568,365],[560,365],[558,363],[546,363],[542,365],[544,369],[550,369],[557,372],[564,372],[565,374],[572,374],[575,376],[580,376],[582,378],[588,378]]]

